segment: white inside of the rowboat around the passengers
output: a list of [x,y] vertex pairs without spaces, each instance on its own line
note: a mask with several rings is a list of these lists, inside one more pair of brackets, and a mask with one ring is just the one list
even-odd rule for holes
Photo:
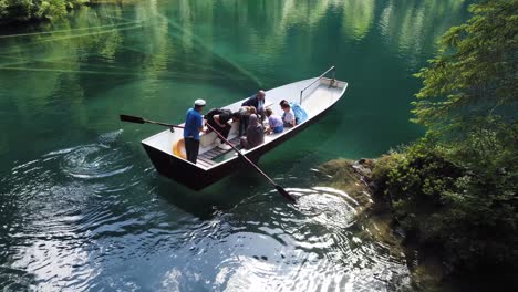
[[[300,104],[301,107],[308,113],[308,119],[300,124],[302,125],[311,121],[311,118],[319,115],[323,111],[325,111],[335,102],[338,102],[343,95],[346,85],[348,83],[343,81],[322,77],[315,77],[287,84],[270,91],[266,91],[265,108],[270,107],[274,115],[282,116],[283,112],[279,103],[282,100],[286,100],[288,102],[296,102]],[[236,112],[240,108],[244,101],[246,100],[241,100],[222,108],[228,108],[232,112]],[[241,149],[239,140],[240,137],[238,137],[238,123],[239,122],[231,122],[231,129],[227,139],[238,149]],[[268,126],[268,118],[265,119],[263,125]],[[286,133],[294,131],[300,125],[297,125],[292,128],[284,127],[284,131],[282,133],[272,133],[266,135],[265,144],[251,149],[241,149],[241,153],[247,154],[249,152],[253,152],[255,149],[281,137]],[[144,139],[142,143],[152,146],[160,152],[164,152],[170,156],[176,156],[180,159],[185,159],[186,156],[185,148],[183,146],[183,138],[184,133],[182,128],[175,129],[175,132],[166,129]],[[199,154],[196,163],[197,167],[208,170],[211,167],[216,167],[219,164],[238,158],[234,149],[224,150],[217,147],[216,139],[216,133],[200,134]]]

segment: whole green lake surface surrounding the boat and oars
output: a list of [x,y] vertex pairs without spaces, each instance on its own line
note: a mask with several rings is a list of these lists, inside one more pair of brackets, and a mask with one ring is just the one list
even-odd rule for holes
[[[135,1],[0,29],[0,286],[7,290],[379,290],[404,259],[358,238],[354,204],[313,171],[376,157],[422,134],[408,123],[457,0]],[[350,83],[319,123],[252,170],[193,192],[159,177],[139,140],[209,107],[317,76]]]

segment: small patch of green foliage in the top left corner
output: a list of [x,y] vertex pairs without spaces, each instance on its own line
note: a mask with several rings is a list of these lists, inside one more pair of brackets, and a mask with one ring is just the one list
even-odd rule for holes
[[89,0],[0,0],[0,23],[62,18]]

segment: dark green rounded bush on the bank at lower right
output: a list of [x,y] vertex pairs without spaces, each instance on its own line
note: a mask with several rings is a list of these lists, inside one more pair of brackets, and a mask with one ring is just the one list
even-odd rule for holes
[[[486,134],[473,134],[466,143],[476,145]],[[512,148],[493,152],[495,163],[488,165],[460,159],[463,146],[423,139],[382,158],[373,178],[406,233],[438,247],[447,267],[517,269],[518,152]]]

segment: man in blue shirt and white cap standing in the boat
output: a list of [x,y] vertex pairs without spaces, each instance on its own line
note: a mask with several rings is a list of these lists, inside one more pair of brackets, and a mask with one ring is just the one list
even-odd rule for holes
[[199,132],[204,131],[204,111],[205,101],[196,100],[195,106],[187,111],[185,116],[184,140],[185,152],[187,153],[187,160],[196,164],[199,150]]

